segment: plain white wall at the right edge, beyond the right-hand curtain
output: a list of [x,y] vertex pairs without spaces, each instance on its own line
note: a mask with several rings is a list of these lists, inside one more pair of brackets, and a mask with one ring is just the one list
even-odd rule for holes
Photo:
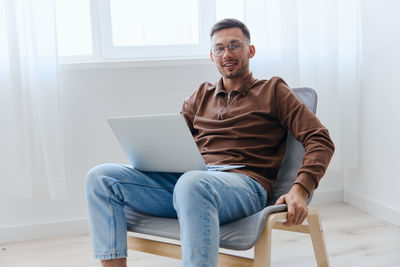
[[360,165],[344,199],[400,226],[400,2],[361,2]]

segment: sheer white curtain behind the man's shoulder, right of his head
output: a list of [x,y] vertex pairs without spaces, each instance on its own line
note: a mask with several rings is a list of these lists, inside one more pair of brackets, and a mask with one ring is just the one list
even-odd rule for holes
[[358,161],[360,97],[359,0],[245,1],[256,77],[281,76],[314,88],[317,114],[336,144],[331,168]]

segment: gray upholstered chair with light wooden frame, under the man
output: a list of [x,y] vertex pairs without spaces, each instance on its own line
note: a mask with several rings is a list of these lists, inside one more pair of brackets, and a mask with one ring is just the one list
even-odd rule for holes
[[[302,100],[314,113],[317,106],[317,94],[311,88],[293,89],[297,97]],[[304,149],[288,132],[285,156],[274,184],[274,195],[268,206],[262,211],[249,217],[221,225],[220,247],[232,250],[247,250],[254,247],[254,260],[220,253],[218,266],[257,266],[267,267],[271,264],[271,231],[279,229],[292,232],[310,234],[315,258],[318,266],[329,266],[325,240],[322,233],[319,213],[315,208],[309,208],[306,223],[297,226],[285,226],[286,205],[274,205],[282,194],[287,193],[297,177],[297,170],[301,165]],[[307,200],[311,201],[312,196]],[[148,252],[171,258],[181,258],[179,242],[169,243],[147,238],[154,237],[179,240],[179,223],[177,219],[160,218],[139,214],[126,208],[128,222],[128,249]],[[129,232],[145,234],[137,237]],[[157,239],[157,238],[156,238]]]

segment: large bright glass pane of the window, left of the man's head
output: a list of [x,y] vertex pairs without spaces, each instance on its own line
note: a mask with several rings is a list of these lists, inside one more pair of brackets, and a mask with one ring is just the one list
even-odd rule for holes
[[113,45],[198,44],[197,7],[197,0],[110,0]]

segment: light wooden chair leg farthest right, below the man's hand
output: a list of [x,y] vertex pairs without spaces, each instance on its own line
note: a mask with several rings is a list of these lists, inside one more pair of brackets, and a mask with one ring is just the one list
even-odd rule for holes
[[307,221],[318,267],[328,267],[329,258],[317,209],[309,209]]

